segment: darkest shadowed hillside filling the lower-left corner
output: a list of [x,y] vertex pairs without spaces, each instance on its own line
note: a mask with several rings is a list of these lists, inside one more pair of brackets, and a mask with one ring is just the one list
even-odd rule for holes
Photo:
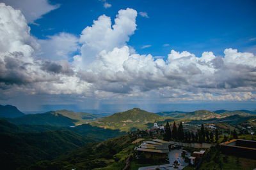
[[94,142],[76,132],[55,130],[24,132],[19,125],[0,119],[0,169],[16,169],[59,155]]

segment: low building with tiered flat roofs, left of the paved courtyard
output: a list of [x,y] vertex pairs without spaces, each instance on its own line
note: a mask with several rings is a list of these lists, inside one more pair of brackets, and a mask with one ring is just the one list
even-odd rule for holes
[[153,139],[152,141],[144,141],[140,146],[134,148],[139,153],[144,153],[147,159],[165,159],[170,148],[176,143]]

